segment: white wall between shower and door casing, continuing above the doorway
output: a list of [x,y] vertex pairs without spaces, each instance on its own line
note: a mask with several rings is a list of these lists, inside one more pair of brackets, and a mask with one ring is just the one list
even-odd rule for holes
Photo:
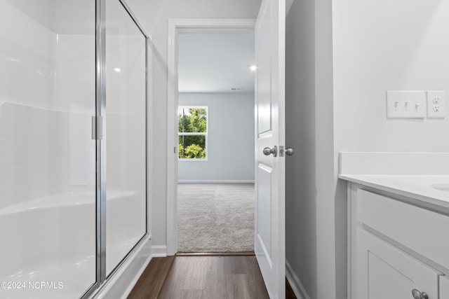
[[[166,161],[173,148],[167,144],[167,51],[168,18],[255,18],[260,0],[128,0],[128,4],[142,25],[152,34],[153,43],[153,107],[150,118],[157,151],[152,151],[154,165],[149,175],[153,178],[152,197],[153,241],[155,246],[166,245]],[[175,157],[174,157],[175,158]]]

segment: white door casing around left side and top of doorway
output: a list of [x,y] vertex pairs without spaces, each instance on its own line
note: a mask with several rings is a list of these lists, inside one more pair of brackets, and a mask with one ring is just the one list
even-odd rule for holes
[[168,256],[173,256],[177,252],[177,33],[180,29],[247,29],[254,26],[253,19],[168,19],[166,249]]

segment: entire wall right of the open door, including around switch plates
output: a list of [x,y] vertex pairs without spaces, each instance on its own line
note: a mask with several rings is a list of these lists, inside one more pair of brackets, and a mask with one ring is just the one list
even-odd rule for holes
[[436,0],[295,1],[288,13],[287,141],[298,155],[287,169],[287,260],[310,298],[346,297],[338,153],[449,151],[449,118],[389,120],[385,106],[387,90],[448,91],[447,15]]

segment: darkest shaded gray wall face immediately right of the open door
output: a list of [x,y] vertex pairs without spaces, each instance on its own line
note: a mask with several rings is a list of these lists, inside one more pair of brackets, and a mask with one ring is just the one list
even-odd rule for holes
[[[286,260],[316,298],[314,1],[294,1],[286,22]],[[299,55],[298,55],[299,54]]]

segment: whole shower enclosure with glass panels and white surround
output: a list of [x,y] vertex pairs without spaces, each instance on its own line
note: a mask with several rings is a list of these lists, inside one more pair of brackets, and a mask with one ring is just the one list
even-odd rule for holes
[[88,298],[147,237],[147,39],[121,0],[0,0],[0,298]]

